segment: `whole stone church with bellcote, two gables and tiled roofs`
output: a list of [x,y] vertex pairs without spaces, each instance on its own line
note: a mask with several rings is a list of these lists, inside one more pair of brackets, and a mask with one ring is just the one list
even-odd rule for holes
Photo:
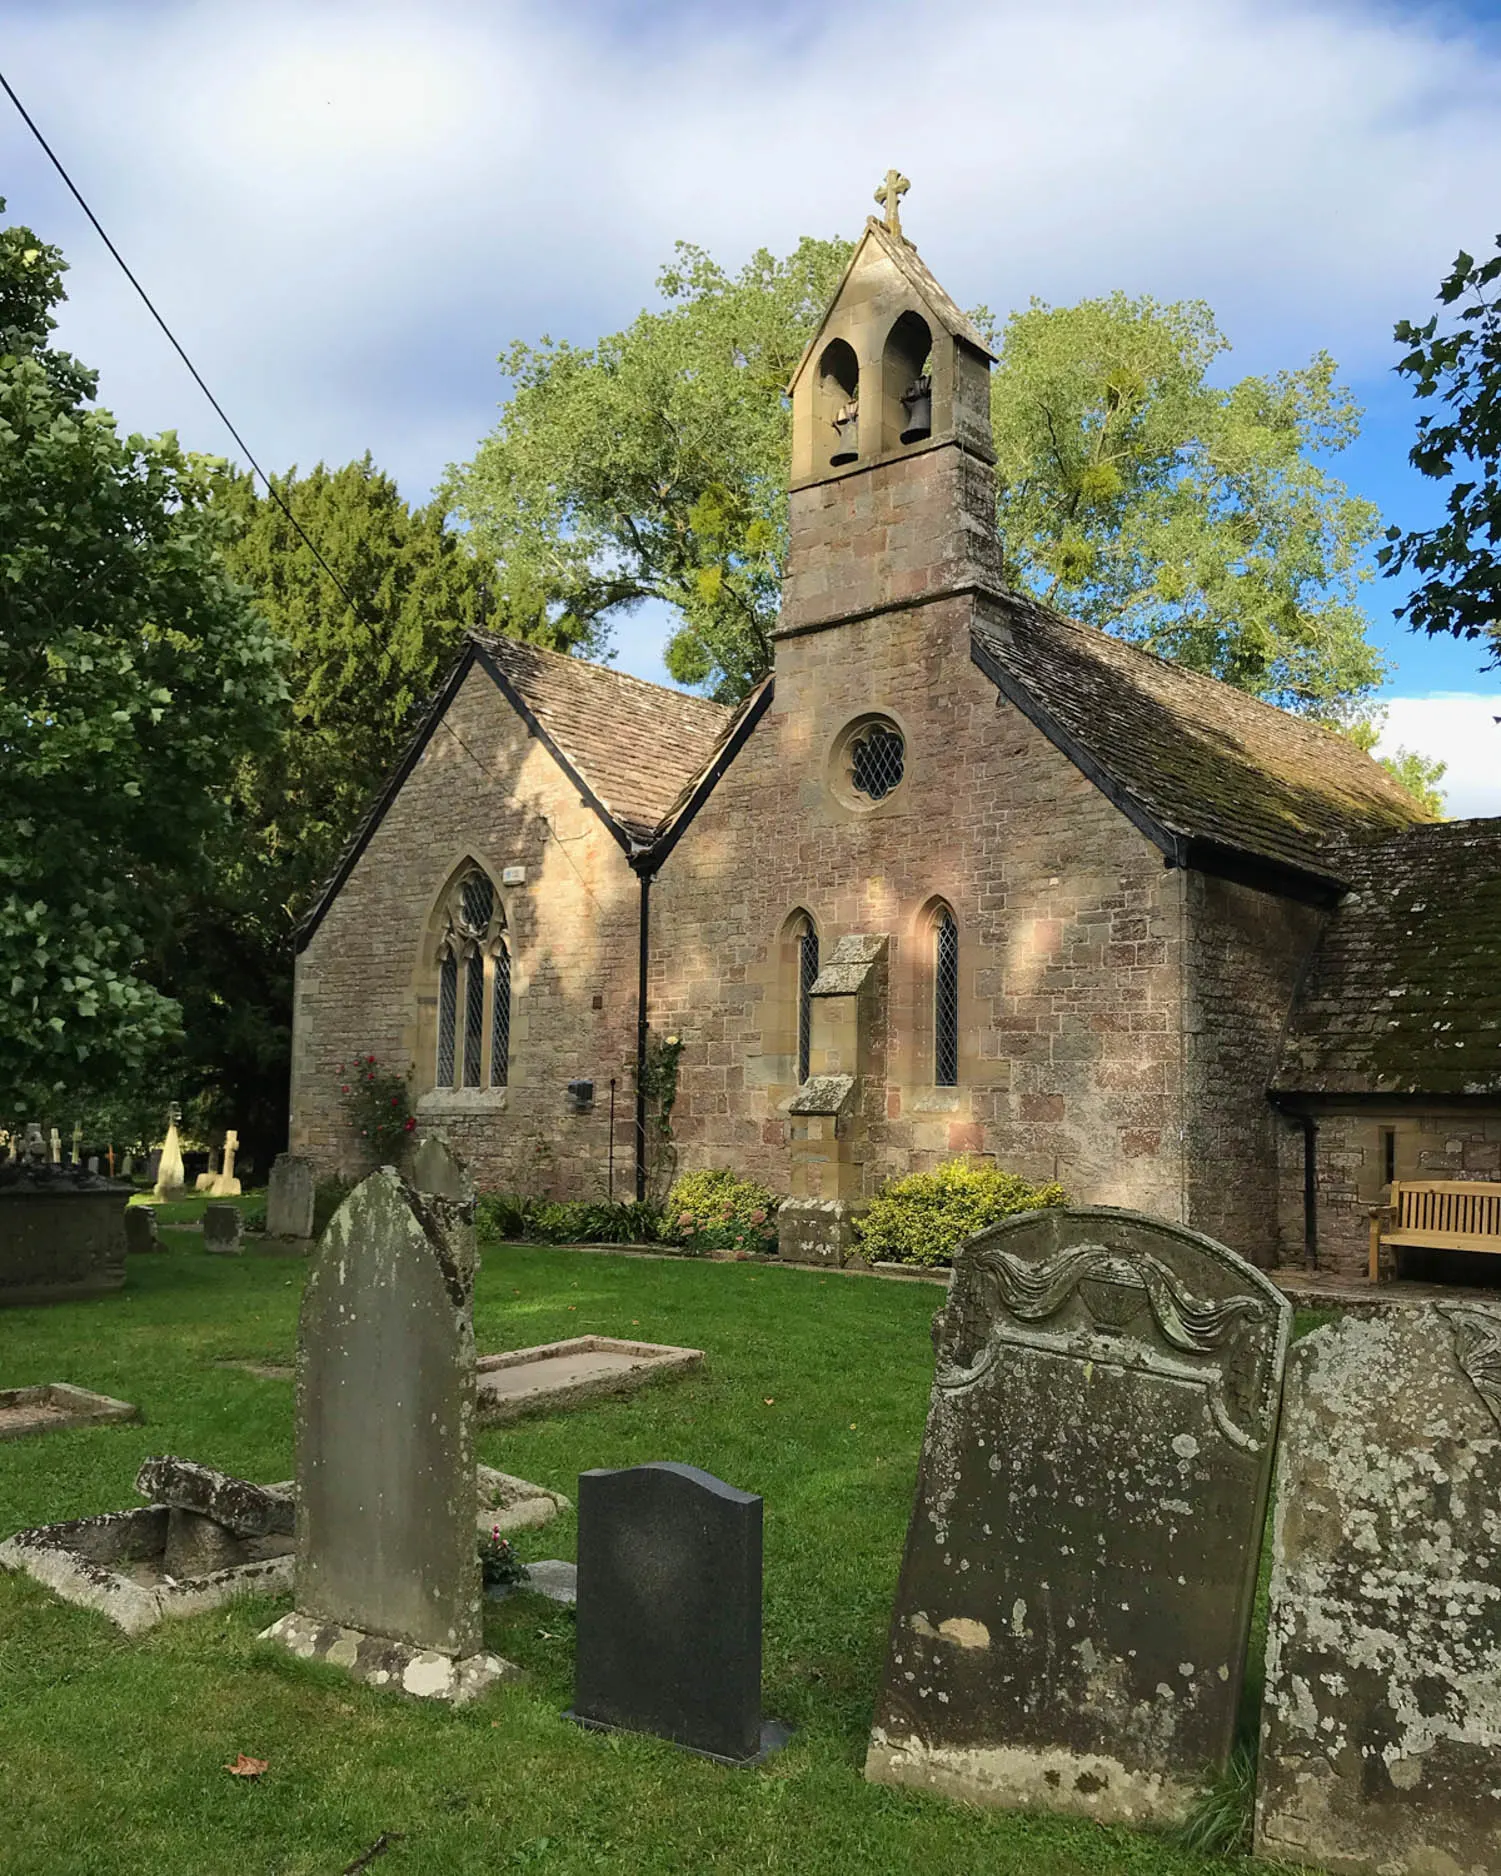
[[[871,219],[790,386],[775,670],[734,711],[471,634],[300,932],[291,1142],[407,1071],[482,1188],[794,1195],[983,1156],[1261,1264],[1501,1174],[1501,820],[1000,578],[985,341]],[[668,1051],[672,1054],[674,1051]]]

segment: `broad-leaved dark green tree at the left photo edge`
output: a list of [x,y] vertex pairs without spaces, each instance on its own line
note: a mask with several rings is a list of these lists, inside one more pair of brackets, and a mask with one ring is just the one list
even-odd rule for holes
[[[0,208],[4,204],[0,203]],[[220,561],[212,465],[122,437],[49,345],[64,261],[0,229],[0,1101],[41,1118],[161,1060],[150,976],[236,764],[285,696]]]

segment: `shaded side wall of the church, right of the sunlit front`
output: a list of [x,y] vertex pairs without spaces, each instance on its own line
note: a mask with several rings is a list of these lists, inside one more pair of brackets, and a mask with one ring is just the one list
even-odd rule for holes
[[1186,895],[1188,1223],[1268,1266],[1278,1261],[1278,1154],[1289,1122],[1266,1088],[1327,914],[1203,872],[1186,876]]

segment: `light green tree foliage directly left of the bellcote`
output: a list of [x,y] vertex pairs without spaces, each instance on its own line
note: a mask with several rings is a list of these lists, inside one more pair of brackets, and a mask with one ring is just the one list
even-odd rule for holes
[[662,310],[593,347],[518,340],[501,355],[510,401],[448,493],[529,636],[597,653],[614,617],[657,598],[681,621],[666,649],[679,683],[734,700],[769,668],[782,390],[848,257],[848,242],[805,238],[732,276],[679,242]]

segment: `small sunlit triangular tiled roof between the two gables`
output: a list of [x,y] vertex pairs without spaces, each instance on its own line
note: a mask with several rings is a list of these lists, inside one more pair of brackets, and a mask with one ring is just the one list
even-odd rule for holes
[[610,816],[649,840],[734,711],[518,638],[471,632]]

